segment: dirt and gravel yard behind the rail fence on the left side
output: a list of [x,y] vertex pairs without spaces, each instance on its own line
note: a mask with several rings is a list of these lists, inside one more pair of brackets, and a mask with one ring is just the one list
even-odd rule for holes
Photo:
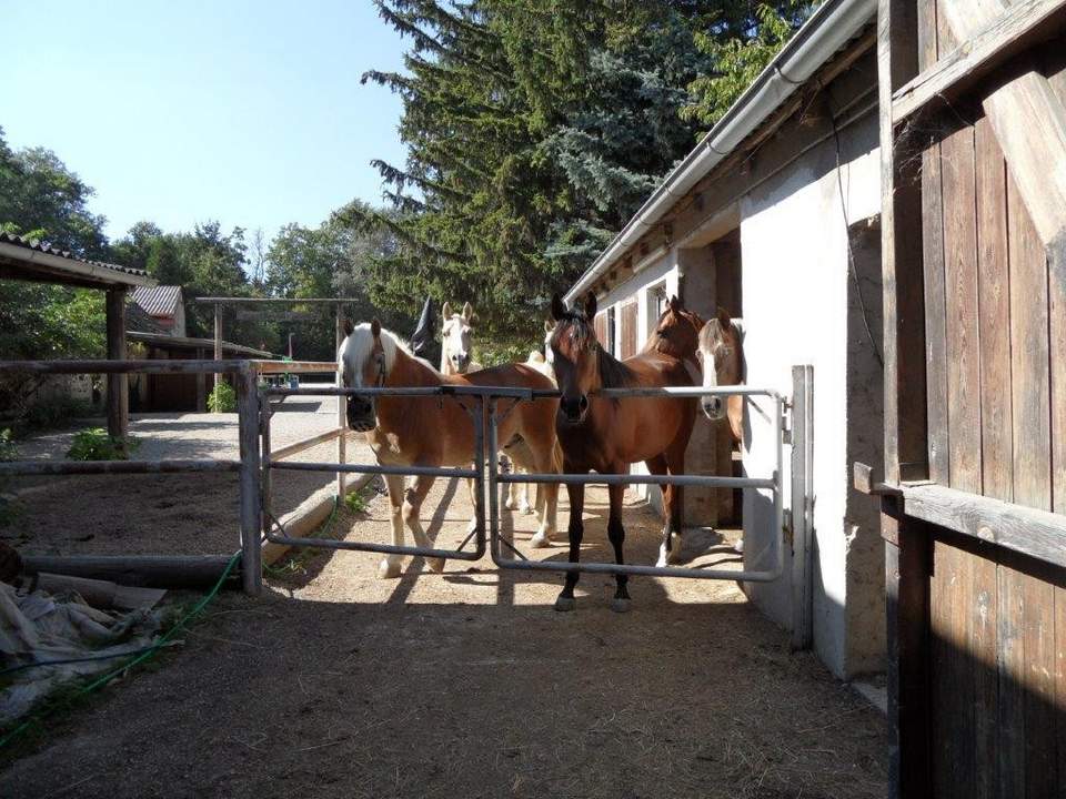
[[[336,426],[332,397],[290,397],[274,414],[274,448]],[[69,429],[20,443],[27,459],[62,459],[73,434],[101,425],[81,421]],[[133,457],[235,458],[237,414],[138,414],[130,432],[140,443]],[[292,461],[333,462],[334,442]],[[373,463],[362,435],[351,434],[349,463]],[[315,492],[332,492],[333,475],[275,472],[275,515],[294,509]],[[0,526],[0,540],[34,555],[228,555],[240,547],[237,474],[169,474],[30,477],[6,490],[18,496],[17,515]],[[73,513],[72,513],[73,512]]]

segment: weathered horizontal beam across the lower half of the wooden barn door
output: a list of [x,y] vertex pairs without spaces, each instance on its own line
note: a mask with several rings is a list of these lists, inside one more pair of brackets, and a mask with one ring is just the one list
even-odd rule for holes
[[907,516],[1066,567],[1066,516],[938,485],[902,486]]

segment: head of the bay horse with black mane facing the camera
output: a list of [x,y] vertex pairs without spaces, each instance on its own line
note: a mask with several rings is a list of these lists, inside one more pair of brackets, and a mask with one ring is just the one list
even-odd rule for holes
[[552,296],[555,325],[547,335],[545,354],[562,394],[559,417],[570,425],[585,421],[589,394],[600,387],[600,342],[596,341],[593,325],[595,315],[595,294],[590,293],[577,311],[567,311],[559,294]]

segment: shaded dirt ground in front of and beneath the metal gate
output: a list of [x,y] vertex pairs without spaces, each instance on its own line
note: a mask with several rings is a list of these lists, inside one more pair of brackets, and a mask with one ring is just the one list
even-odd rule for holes
[[[465,494],[431,493],[439,543],[462,537]],[[585,559],[610,558],[604,500],[586,503]],[[532,517],[513,518],[522,547]],[[658,523],[643,506],[626,522],[627,558],[653,563]],[[335,525],[388,540],[386,503]],[[562,535],[527,554],[565,559]],[[436,575],[416,558],[379,580],[379,558],[322,553],[259,599],[223,595],[157,668],[0,760],[0,796],[885,793],[884,718],[790,653],[735,584],[634,579],[616,615],[613,580],[585,575],[577,609],[559,614],[559,575],[487,559]],[[737,559],[725,540],[696,565]]]

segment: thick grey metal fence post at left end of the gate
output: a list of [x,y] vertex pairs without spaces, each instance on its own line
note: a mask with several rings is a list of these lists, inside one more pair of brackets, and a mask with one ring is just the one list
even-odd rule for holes
[[234,376],[241,443],[241,580],[245,594],[258,596],[263,585],[262,504],[259,496],[259,386],[255,368],[249,363]]

